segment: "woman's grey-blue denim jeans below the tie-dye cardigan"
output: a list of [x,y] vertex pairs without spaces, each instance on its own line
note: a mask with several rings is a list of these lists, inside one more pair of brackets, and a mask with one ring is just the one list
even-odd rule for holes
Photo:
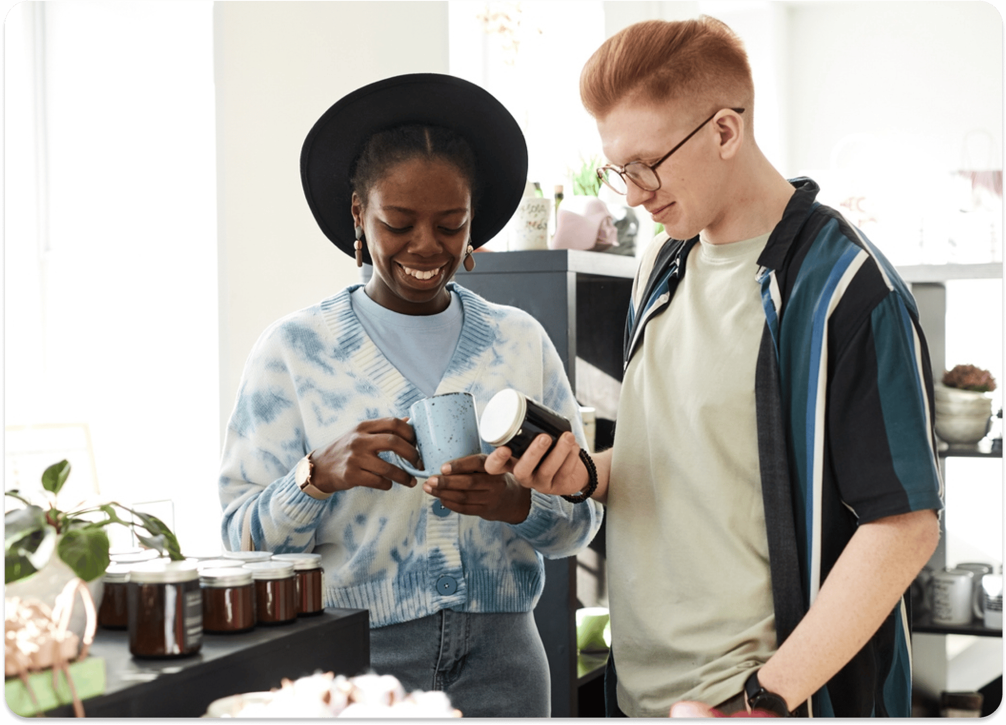
[[442,690],[466,717],[547,718],[548,660],[531,612],[444,609],[370,630],[370,667],[406,692]]

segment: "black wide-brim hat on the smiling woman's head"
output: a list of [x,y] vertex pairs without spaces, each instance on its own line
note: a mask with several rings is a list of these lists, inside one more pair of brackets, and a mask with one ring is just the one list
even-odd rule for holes
[[[475,153],[479,203],[472,245],[493,238],[513,216],[527,181],[527,144],[510,112],[487,90],[453,75],[409,73],[364,85],[318,119],[301,150],[301,182],[325,236],[353,256],[349,176],[374,133],[423,124],[451,129]],[[370,254],[363,248],[363,259]]]

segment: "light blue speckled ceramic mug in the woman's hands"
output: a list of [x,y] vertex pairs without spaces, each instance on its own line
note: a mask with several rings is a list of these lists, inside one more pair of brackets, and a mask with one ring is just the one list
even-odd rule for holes
[[415,430],[415,447],[426,470],[413,468],[390,450],[378,456],[417,479],[440,475],[448,461],[482,452],[471,393],[444,393],[417,400],[408,408],[408,422]]

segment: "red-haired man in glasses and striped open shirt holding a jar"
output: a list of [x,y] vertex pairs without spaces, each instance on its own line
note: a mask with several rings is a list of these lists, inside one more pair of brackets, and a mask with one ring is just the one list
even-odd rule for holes
[[596,478],[610,714],[907,717],[906,590],[942,505],[910,293],[759,150],[746,54],[721,22],[626,28],[580,96],[604,180],[666,231],[634,287],[614,447],[596,476],[567,435],[486,470],[567,496]]

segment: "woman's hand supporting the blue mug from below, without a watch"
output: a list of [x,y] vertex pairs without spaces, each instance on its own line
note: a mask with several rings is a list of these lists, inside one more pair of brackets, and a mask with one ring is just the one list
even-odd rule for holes
[[486,521],[519,524],[531,510],[531,492],[506,474],[486,473],[486,457],[466,456],[441,467],[423,490],[436,496],[445,508]]

